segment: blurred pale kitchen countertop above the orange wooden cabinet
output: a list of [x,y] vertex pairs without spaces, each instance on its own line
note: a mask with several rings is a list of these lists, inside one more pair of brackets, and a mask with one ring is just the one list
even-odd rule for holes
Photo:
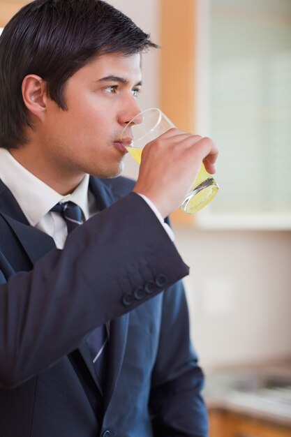
[[209,410],[227,410],[291,430],[291,360],[227,366],[206,373]]

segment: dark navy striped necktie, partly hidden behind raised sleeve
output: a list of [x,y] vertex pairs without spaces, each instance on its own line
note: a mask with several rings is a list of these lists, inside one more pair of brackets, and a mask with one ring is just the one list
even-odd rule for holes
[[[66,221],[68,234],[77,226],[82,224],[82,209],[73,202],[57,203],[51,209],[52,212],[59,212]],[[108,335],[105,325],[99,326],[87,338],[87,344],[91,353],[91,357],[96,371],[100,389],[103,391],[105,384],[105,366],[106,366],[106,350]]]

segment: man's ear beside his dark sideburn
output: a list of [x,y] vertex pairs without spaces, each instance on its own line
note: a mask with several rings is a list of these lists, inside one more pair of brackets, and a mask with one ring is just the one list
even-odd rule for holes
[[27,75],[22,81],[22,98],[27,109],[43,119],[46,110],[46,82],[38,75]]

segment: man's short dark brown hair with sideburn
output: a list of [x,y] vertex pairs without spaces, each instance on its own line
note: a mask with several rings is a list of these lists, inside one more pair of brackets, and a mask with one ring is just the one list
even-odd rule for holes
[[24,6],[0,37],[0,147],[27,142],[29,122],[22,81],[36,74],[47,94],[66,110],[64,87],[100,54],[125,55],[157,47],[130,18],[101,0],[35,0]]

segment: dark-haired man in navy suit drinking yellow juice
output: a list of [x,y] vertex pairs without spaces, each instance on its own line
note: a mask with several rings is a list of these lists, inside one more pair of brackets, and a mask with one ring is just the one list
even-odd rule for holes
[[151,46],[99,0],[35,0],[1,36],[1,437],[207,436],[163,219],[217,149],[172,129],[117,177]]

